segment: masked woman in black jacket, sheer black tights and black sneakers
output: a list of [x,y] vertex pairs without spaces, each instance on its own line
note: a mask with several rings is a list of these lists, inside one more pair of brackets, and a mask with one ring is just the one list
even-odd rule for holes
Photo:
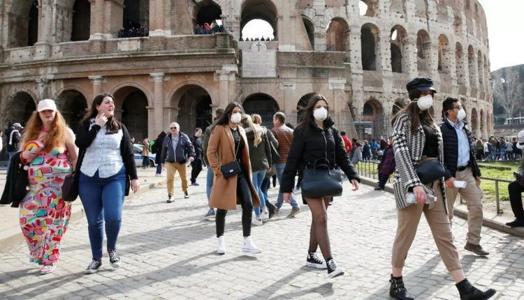
[[[340,166],[354,186],[353,190],[358,190],[360,179],[349,161],[342,137],[333,127],[335,123],[328,117],[329,107],[326,98],[318,93],[314,94],[304,110],[304,121],[297,126],[293,133],[293,142],[282,174],[280,190],[284,193],[284,200],[289,202],[291,199],[297,171],[301,173],[305,168],[313,167],[318,158],[326,158],[331,169],[335,169],[337,165]],[[326,209],[332,198],[321,197],[304,200],[312,213],[307,265],[319,269],[326,269],[327,267],[329,278],[344,274],[344,269],[337,266],[331,256]],[[326,265],[316,257],[318,246],[320,246],[322,255],[326,260]]]

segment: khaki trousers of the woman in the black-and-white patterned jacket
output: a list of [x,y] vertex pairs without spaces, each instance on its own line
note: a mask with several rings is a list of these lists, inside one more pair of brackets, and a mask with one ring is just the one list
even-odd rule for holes
[[419,221],[422,213],[424,213],[440,257],[442,257],[442,261],[448,271],[462,269],[462,264],[460,264],[458,259],[457,248],[453,245],[453,234],[451,233],[449,218],[446,216],[446,211],[442,204],[443,197],[439,181],[433,183],[433,189],[438,200],[432,207],[430,207],[430,204],[414,204],[400,209],[397,213],[397,235],[393,242],[393,253],[391,255],[391,264],[395,268],[404,267],[407,252],[412,246],[417,227],[419,227]]

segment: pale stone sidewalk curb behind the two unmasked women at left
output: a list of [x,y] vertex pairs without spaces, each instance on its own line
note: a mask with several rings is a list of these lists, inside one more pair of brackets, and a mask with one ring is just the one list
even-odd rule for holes
[[[137,195],[141,195],[147,192],[148,190],[155,188],[156,186],[166,184],[166,180],[167,180],[166,178],[163,178],[153,183],[142,184],[140,185],[140,189],[138,190],[138,192],[133,194],[133,192],[131,191],[129,196],[124,198],[124,201],[126,201],[126,199],[129,197],[135,197]],[[73,222],[75,220],[84,218],[84,214],[85,214],[84,207],[81,204],[80,205],[74,204],[78,202],[80,202],[79,197],[75,200],[75,202],[73,202],[73,207],[71,207],[71,218],[69,219],[69,222]],[[23,242],[24,242],[24,234],[22,234],[22,231],[20,231],[20,227],[17,227],[17,230],[14,230],[13,232],[8,232],[8,234],[3,234],[3,232],[0,232],[0,253],[6,252],[12,246],[15,246]]]

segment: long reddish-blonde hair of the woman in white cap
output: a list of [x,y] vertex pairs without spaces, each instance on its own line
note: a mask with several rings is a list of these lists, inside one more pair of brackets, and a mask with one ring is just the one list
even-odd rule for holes
[[[42,119],[40,118],[38,112],[35,111],[33,112],[33,114],[31,114],[31,119],[27,121],[27,126],[25,127],[25,133],[23,135],[22,143],[20,144],[20,149],[22,149],[22,147],[24,147],[24,144],[26,144],[27,142],[32,140],[38,140],[38,137],[40,137],[42,129]],[[54,120],[51,123],[48,133],[45,133],[45,135],[41,137],[41,140],[44,141],[43,151],[49,152],[53,149],[54,146],[61,146],[62,144],[65,144],[68,139],[67,130],[68,126],[66,124],[66,120],[57,110],[57,113],[54,115]]]

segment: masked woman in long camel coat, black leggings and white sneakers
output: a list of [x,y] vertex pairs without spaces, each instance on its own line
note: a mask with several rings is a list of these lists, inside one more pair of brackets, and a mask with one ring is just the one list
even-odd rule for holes
[[212,128],[208,145],[208,160],[214,173],[210,207],[217,209],[217,254],[226,253],[226,213],[236,209],[237,204],[242,207],[242,252],[261,253],[251,239],[253,207],[260,207],[261,204],[252,183],[247,137],[244,128],[239,125],[242,114],[240,103],[229,103]]

